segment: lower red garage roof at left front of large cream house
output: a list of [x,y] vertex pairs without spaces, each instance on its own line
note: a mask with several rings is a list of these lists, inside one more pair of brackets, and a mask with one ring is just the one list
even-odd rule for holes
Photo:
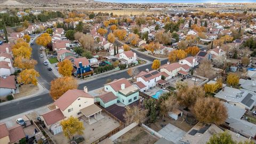
[[42,117],[47,125],[55,124],[65,118],[59,108],[43,114]]

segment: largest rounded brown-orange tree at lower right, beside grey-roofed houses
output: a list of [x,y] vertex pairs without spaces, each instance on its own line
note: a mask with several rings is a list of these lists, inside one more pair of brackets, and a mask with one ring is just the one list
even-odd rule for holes
[[227,109],[217,98],[198,98],[193,107],[196,119],[203,123],[214,123],[217,125],[225,123],[228,114]]

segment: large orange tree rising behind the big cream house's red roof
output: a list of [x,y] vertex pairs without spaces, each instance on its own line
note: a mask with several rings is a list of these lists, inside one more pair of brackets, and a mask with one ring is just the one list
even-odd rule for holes
[[59,77],[51,82],[50,95],[53,100],[57,100],[68,90],[77,89],[76,79],[73,77]]

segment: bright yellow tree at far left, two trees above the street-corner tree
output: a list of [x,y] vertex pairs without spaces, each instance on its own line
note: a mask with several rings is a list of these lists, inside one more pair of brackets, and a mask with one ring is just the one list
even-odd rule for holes
[[23,57],[23,58],[26,58],[26,59],[30,59],[31,52],[32,52],[31,47],[25,47],[25,46],[21,46],[21,47],[19,47],[19,49],[13,49],[12,50],[14,58]]

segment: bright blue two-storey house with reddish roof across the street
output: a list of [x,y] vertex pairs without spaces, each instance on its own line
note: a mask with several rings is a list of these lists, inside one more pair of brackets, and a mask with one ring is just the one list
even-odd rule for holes
[[81,73],[84,74],[91,71],[90,62],[85,57],[76,58],[74,59],[73,63],[74,63],[73,73],[75,76],[81,75]]

